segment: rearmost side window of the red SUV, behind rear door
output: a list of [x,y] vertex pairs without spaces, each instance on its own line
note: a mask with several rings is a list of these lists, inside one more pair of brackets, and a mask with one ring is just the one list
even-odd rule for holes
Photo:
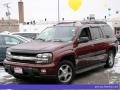
[[109,26],[102,26],[101,29],[105,38],[110,38],[114,36],[113,31]]

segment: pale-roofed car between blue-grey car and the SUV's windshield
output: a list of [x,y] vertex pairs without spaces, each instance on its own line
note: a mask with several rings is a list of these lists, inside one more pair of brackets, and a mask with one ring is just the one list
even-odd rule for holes
[[20,35],[29,39],[35,39],[39,33],[16,32],[13,35]]

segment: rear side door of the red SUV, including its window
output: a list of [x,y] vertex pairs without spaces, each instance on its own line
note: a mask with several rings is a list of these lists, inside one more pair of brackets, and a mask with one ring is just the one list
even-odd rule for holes
[[92,26],[90,32],[94,43],[94,62],[96,64],[103,63],[106,57],[106,44],[102,31],[99,26]]

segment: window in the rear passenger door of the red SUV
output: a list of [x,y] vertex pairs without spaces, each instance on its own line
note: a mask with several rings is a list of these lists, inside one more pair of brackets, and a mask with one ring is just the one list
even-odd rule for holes
[[102,37],[99,27],[92,27],[92,28],[90,28],[90,30],[91,30],[93,39],[99,39]]

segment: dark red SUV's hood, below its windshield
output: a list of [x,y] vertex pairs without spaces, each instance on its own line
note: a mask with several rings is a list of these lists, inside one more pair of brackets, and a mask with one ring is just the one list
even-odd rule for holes
[[19,44],[10,48],[12,51],[54,51],[60,48],[64,48],[68,45],[69,42],[41,42],[41,41],[32,41],[28,43]]

